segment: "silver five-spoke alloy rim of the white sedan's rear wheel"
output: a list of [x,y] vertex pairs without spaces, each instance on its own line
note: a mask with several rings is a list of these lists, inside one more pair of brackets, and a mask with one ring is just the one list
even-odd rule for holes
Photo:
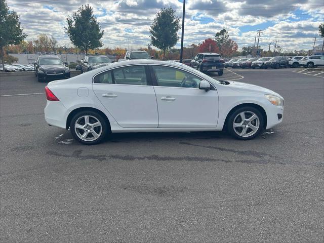
[[91,142],[100,137],[102,125],[95,116],[83,115],[76,119],[74,131],[78,138]]

